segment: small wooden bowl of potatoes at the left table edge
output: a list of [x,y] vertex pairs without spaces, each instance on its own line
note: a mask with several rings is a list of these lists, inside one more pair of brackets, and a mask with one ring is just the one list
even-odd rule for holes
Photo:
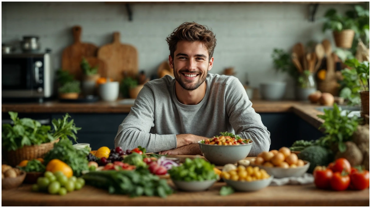
[[10,165],[1,165],[1,189],[11,189],[19,187],[26,178],[26,172]]

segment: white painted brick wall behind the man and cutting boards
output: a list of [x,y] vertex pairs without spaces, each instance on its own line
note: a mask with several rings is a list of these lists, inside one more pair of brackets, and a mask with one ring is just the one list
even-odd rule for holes
[[[212,28],[217,37],[214,67],[210,73],[221,74],[233,66],[236,77],[259,87],[263,81],[289,80],[286,97],[293,98],[293,81],[286,74],[276,74],[271,54],[273,48],[288,50],[293,44],[322,41],[331,33],[322,33],[320,21],[308,21],[307,4],[134,4],[133,21],[128,20],[124,4],[102,2],[21,2],[1,3],[2,43],[19,45],[24,35],[38,35],[42,50],[51,48],[55,69],[60,67],[62,50],[72,44],[74,25],[82,26],[82,41],[97,46],[110,43],[112,33],[121,33],[121,42],[138,50],[139,70],[156,73],[167,59],[165,38],[181,23],[196,21]],[[329,8],[338,11],[349,5],[319,5],[316,19]]]

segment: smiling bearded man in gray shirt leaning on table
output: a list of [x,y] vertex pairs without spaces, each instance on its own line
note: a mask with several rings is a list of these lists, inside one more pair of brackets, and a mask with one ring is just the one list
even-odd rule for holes
[[160,154],[201,154],[197,142],[232,132],[251,138],[250,156],[268,151],[270,133],[236,77],[209,74],[216,38],[186,22],[167,37],[174,77],[147,82],[119,125],[115,147]]

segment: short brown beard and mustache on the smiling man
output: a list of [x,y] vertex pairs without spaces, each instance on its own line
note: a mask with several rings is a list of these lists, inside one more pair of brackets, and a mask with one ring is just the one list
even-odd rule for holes
[[[207,67],[207,69],[209,69],[209,67]],[[201,71],[190,71],[187,69],[179,70],[178,72],[176,72],[176,69],[174,67],[175,80],[177,80],[177,82],[180,84],[181,87],[183,87],[184,90],[189,90],[189,91],[196,90],[198,87],[200,87],[200,85],[206,80],[208,72],[209,70],[206,70],[206,74],[205,73],[203,74]],[[181,73],[197,73],[198,80],[197,81],[196,80],[185,80],[182,78]]]

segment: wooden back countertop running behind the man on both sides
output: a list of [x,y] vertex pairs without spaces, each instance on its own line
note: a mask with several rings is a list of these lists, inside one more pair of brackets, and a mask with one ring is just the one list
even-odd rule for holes
[[[288,113],[293,112],[303,120],[318,128],[323,120],[316,110],[320,105],[299,101],[264,101],[252,100],[252,107],[257,113]],[[116,102],[98,101],[96,103],[60,103],[58,101],[47,101],[45,103],[3,103],[1,111],[15,111],[18,113],[129,113],[131,104],[120,104]]]

